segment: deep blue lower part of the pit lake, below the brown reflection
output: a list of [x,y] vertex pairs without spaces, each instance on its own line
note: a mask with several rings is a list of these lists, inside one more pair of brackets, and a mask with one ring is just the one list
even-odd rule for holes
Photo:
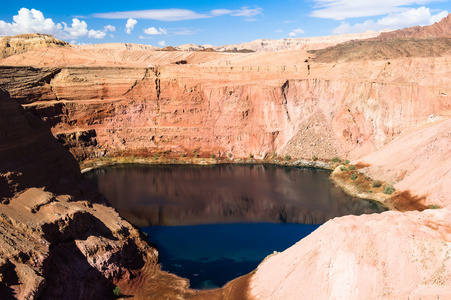
[[158,245],[162,268],[189,278],[195,289],[217,288],[254,270],[319,225],[239,223],[144,227]]

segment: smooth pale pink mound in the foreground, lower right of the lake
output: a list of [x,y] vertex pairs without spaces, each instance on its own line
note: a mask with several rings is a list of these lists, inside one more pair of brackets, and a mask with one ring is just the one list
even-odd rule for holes
[[448,210],[385,212],[331,220],[266,258],[251,281],[255,299],[436,299],[451,297]]

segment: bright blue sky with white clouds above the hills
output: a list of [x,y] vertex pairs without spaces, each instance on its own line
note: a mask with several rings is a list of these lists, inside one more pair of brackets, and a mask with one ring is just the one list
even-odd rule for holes
[[215,46],[429,25],[441,0],[6,1],[0,36],[47,33],[74,44]]

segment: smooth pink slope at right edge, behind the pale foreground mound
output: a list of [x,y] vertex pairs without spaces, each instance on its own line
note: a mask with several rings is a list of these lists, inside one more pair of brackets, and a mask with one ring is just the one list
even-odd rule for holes
[[396,189],[419,196],[427,205],[451,204],[450,119],[431,116],[421,129],[401,135],[361,161],[369,165],[362,172],[395,183]]

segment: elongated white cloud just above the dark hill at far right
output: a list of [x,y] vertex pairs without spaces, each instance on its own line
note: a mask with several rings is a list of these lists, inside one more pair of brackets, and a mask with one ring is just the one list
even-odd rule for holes
[[417,25],[430,25],[440,21],[448,15],[447,11],[441,11],[436,15],[432,15],[429,8],[419,7],[417,9],[410,9],[401,13],[391,13],[386,17],[378,19],[377,21],[367,20],[363,23],[356,23],[350,25],[347,22],[342,22],[340,26],[332,30],[333,34],[345,33],[359,33],[368,30],[383,30],[383,29],[400,29],[412,27]]

